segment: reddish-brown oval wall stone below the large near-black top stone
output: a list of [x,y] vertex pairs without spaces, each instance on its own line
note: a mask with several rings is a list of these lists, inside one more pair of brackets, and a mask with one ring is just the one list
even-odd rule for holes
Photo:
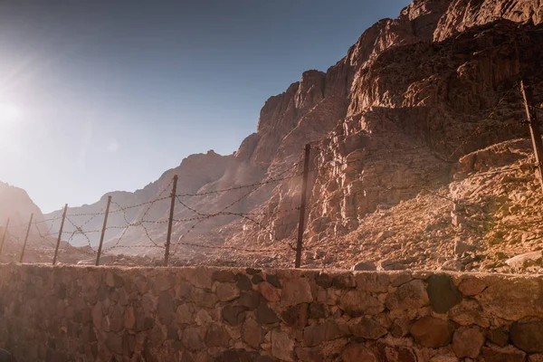
[[440,348],[451,343],[452,324],[447,320],[425,316],[411,326],[414,340],[424,347]]

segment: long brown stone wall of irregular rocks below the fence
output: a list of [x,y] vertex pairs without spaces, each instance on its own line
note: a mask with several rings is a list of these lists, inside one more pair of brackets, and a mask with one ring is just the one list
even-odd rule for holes
[[0,348],[18,362],[543,361],[543,279],[4,264]]

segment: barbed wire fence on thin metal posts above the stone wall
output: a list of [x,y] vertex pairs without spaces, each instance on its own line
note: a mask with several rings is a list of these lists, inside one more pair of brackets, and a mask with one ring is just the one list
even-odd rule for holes
[[[509,96],[510,91],[500,99],[499,104]],[[538,108],[538,106],[533,106],[533,112]],[[486,119],[493,119],[493,115],[494,110]],[[528,116],[529,119],[530,116],[531,119],[534,118],[534,114]],[[529,124],[529,120],[497,123],[480,122],[472,135],[463,138],[460,145],[454,148],[450,157],[446,158],[452,159],[458,150],[471,142],[473,138],[481,138],[484,134],[509,130],[511,127],[526,127],[527,124]],[[443,141],[452,143],[454,139],[450,138]],[[164,265],[168,264],[170,256],[176,256],[180,252],[186,251],[187,248],[247,253],[271,253],[286,250],[295,252],[295,266],[300,267],[301,252],[307,250],[308,247],[319,246],[319,243],[313,243],[312,245],[304,245],[303,243],[308,211],[319,207],[321,204],[329,204],[334,199],[345,198],[346,196],[352,197],[365,192],[346,194],[344,190],[338,195],[319,197],[317,201],[311,202],[311,195],[308,197],[304,194],[304,190],[307,191],[309,183],[315,184],[317,179],[324,176],[325,172],[330,169],[349,167],[351,164],[360,164],[367,160],[367,157],[341,157],[335,152],[319,147],[311,147],[311,144],[308,144],[300,160],[291,167],[277,175],[268,176],[259,182],[195,193],[177,193],[177,176],[174,176],[169,183],[157,191],[157,195],[153,199],[142,203],[121,205],[121,202],[112,200],[112,197],[109,196],[106,209],[101,208],[93,213],[68,213],[68,205],[65,205],[63,212],[57,212],[52,217],[44,220],[34,219],[33,214],[28,222],[20,224],[10,224],[8,219],[3,228],[3,233],[0,234],[2,238],[0,240],[0,256],[2,256],[6,245],[21,243],[23,249],[18,253],[12,252],[11,258],[13,260],[16,260],[18,256],[19,262],[24,262],[26,245],[31,243],[34,247],[37,247],[32,251],[33,259],[37,258],[40,262],[46,262],[46,259],[52,256],[53,265],[57,261],[81,262],[79,260],[81,255],[86,255],[89,258],[89,260],[83,262],[100,265],[100,258],[108,255],[118,255],[119,252],[129,250],[136,252],[153,250],[155,251],[154,262],[158,262],[156,255],[163,253]],[[408,148],[387,149],[379,154],[381,156],[394,153],[408,154],[409,152],[420,151],[423,148],[430,149],[429,145],[414,144]],[[310,154],[311,151],[313,152],[312,155]],[[315,153],[315,151],[317,152]],[[318,159],[322,161],[321,166],[317,162]],[[531,172],[532,168],[537,169],[537,166],[529,164],[527,167]],[[303,171],[300,172],[300,168]],[[514,170],[526,170],[526,167],[506,167],[478,174],[476,177],[494,176]],[[296,205],[278,206],[266,210],[264,209],[266,204],[264,204],[260,208],[249,208],[251,212],[243,212],[245,208],[238,207],[262,188],[281,186],[284,183],[294,183],[296,187],[300,187],[300,200]],[[441,195],[431,187],[387,187],[383,188],[382,191],[424,192],[441,197],[454,204],[454,200]],[[232,197],[228,199],[227,195],[232,195]],[[205,204],[205,199],[208,197],[222,197],[222,202],[218,204],[211,203],[213,205],[209,207],[209,205]],[[166,203],[169,203],[169,208]],[[111,209],[110,205],[112,206]],[[158,212],[154,209],[157,205],[161,205]],[[214,208],[214,205],[223,206]],[[169,215],[164,213],[164,210],[167,209],[169,209]],[[176,217],[176,209],[180,210],[177,214],[182,214],[183,217]],[[108,224],[108,217],[114,217],[115,222]],[[96,226],[96,223],[100,221],[103,221],[101,228]],[[240,246],[226,243],[224,240],[219,243],[198,240],[198,237],[208,232],[209,229],[232,224],[233,222],[239,222],[238,224],[242,224],[242,227],[244,227],[244,224],[252,225],[258,231],[258,235],[263,235],[262,242]],[[491,220],[485,222],[491,223]],[[196,232],[199,226],[206,224],[211,225],[211,227],[203,228],[203,233]],[[295,235],[296,228],[298,229],[297,235]],[[142,233],[136,232],[136,229],[140,229]],[[105,237],[106,233],[107,238]],[[195,237],[191,238],[193,234],[195,234]],[[143,235],[143,237],[139,237],[140,235]],[[99,236],[100,244],[97,247],[96,240]],[[172,242],[172,236],[175,236],[176,241]],[[139,239],[134,240],[135,237]],[[129,239],[129,243],[123,243],[127,239]],[[104,241],[106,241],[106,244],[102,248]],[[172,249],[171,252],[170,248]],[[73,252],[79,252],[76,259],[71,256]]]

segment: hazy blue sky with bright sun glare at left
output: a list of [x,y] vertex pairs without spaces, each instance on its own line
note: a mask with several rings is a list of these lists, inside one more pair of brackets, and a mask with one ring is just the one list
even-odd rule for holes
[[0,0],[0,181],[43,212],[231,154],[408,0]]

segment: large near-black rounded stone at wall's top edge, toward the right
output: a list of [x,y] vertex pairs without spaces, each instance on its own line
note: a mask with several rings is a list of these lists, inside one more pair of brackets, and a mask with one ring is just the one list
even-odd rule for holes
[[462,301],[462,293],[454,286],[448,275],[433,274],[426,282],[430,304],[436,313],[446,313]]

